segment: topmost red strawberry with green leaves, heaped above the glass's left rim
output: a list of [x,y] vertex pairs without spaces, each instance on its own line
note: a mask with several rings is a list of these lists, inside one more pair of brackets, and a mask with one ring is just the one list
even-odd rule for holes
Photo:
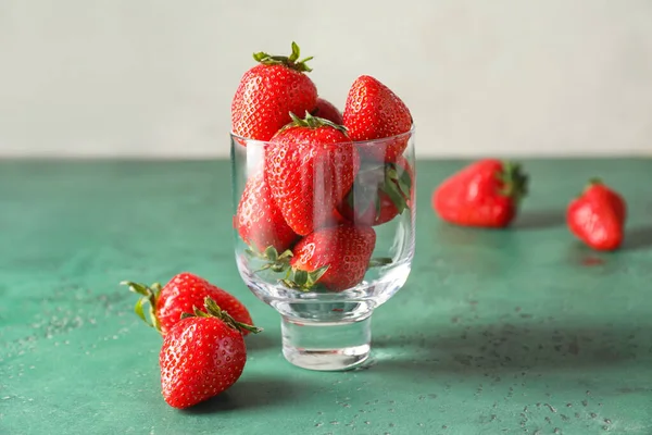
[[[289,57],[253,54],[260,65],[247,71],[231,101],[231,128],[237,136],[267,141],[291,121],[289,112],[315,109],[317,88],[305,72],[312,58],[299,61],[292,42]],[[242,142],[243,144],[243,142]]]

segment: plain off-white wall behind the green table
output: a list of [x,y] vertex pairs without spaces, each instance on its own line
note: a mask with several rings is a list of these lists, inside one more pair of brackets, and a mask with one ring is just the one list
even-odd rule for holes
[[291,40],[339,105],[394,89],[422,157],[652,154],[649,0],[0,0],[0,157],[226,156]]

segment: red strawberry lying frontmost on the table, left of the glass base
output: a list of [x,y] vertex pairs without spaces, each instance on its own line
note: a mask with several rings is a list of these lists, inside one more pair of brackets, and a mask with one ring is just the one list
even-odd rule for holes
[[209,297],[203,307],[177,322],[161,347],[161,390],[174,408],[191,407],[235,384],[247,361],[242,333],[260,332],[236,322]]

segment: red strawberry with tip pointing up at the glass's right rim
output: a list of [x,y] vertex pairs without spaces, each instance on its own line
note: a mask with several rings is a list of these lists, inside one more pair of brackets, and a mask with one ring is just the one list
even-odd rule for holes
[[[412,128],[412,115],[405,103],[368,75],[353,82],[344,105],[343,122],[354,141],[392,137]],[[409,136],[368,144],[361,147],[360,152],[377,161],[393,162],[405,150]]]

